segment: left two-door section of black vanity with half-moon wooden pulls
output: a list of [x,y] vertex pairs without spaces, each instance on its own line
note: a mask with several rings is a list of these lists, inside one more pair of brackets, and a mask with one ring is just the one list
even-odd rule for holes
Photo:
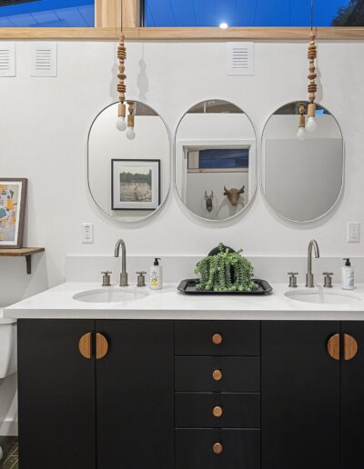
[[171,469],[173,360],[169,321],[19,320],[21,469]]

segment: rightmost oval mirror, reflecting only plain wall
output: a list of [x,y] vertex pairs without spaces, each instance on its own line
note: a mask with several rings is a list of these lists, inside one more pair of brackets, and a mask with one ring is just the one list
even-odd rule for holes
[[343,185],[344,146],[335,117],[317,105],[317,128],[298,139],[299,107],[280,107],[268,119],[262,142],[262,190],[278,215],[309,222],[336,205]]

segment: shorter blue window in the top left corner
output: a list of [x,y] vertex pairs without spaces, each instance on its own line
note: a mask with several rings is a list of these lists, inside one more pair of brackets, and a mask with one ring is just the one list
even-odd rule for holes
[[0,0],[0,27],[95,27],[95,0]]

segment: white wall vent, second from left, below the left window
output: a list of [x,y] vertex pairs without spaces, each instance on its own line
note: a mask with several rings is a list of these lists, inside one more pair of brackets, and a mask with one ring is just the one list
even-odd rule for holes
[[31,76],[57,75],[56,43],[35,43],[32,45]]

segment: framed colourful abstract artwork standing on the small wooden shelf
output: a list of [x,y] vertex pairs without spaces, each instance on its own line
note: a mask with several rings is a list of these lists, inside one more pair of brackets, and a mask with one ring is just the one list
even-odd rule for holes
[[0,248],[23,246],[27,182],[0,177]]

